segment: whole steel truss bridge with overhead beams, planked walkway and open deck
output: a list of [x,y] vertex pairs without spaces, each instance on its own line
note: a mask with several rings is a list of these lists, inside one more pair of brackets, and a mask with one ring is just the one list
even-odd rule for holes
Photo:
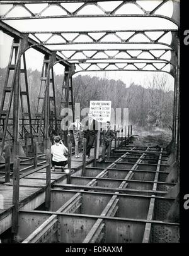
[[[10,149],[6,147],[3,164],[4,169],[9,166],[9,176],[7,171],[5,183],[1,184],[4,210],[0,209],[0,235],[11,228],[16,242],[178,243],[180,240],[178,220],[168,219],[169,213],[178,207],[175,194],[178,197],[179,174],[178,180],[170,181],[172,169],[166,148],[130,141],[132,126],[128,137],[125,131],[124,140],[123,133],[122,137],[116,135],[108,161],[96,161],[97,143],[94,159],[87,161],[84,140],[83,161],[79,165],[71,161],[69,143],[69,173],[50,170],[51,154],[47,149],[50,130],[60,129],[62,109],[74,110],[72,76],[81,71],[155,71],[173,76],[174,164],[180,168],[180,1],[106,2],[0,3],[0,30],[13,38],[0,109],[1,155],[11,139],[14,156],[10,174]],[[164,11],[166,7],[172,8],[171,15]],[[95,19],[90,22],[91,27],[90,19]],[[97,19],[108,20],[106,26],[102,20],[97,26]],[[46,25],[48,20],[50,23]],[[81,20],[85,22],[83,27]],[[108,24],[110,20],[112,27]],[[79,29],[75,29],[77,21]],[[114,21],[118,29],[113,26]],[[161,25],[161,21],[166,25]],[[150,23],[151,29],[147,28]],[[25,58],[31,48],[43,54],[40,83],[33,88],[38,89],[35,119],[31,118]],[[57,63],[64,70],[59,111],[54,81]],[[64,136],[67,138],[66,131]],[[38,142],[42,138],[46,156],[38,152],[38,143],[33,142],[35,137]],[[26,143],[27,138],[31,140],[33,165],[29,157],[22,157],[21,162],[16,157],[20,154],[20,138]]]

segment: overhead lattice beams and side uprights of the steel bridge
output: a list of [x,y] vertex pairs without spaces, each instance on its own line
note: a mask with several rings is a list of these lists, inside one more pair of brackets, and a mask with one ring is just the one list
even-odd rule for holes
[[[0,21],[0,29],[8,34],[11,35],[15,40],[20,40],[20,46],[21,51],[18,54],[18,61],[15,63],[15,74],[14,74],[14,81],[13,81],[13,95],[14,95],[14,111],[15,113],[18,113],[18,107],[19,104],[16,104],[16,101],[18,102],[19,95],[16,94],[16,90],[20,87],[19,82],[19,76],[20,76],[20,58],[23,54],[25,54],[26,50],[30,47],[33,47],[34,49],[37,49],[37,51],[42,52],[45,59],[49,59],[49,67],[47,68],[47,72],[45,74],[45,95],[43,95],[43,99],[46,99],[43,103],[43,114],[41,114],[40,117],[40,123],[42,123],[42,119],[44,119],[44,125],[43,125],[43,136],[45,141],[45,147],[47,147],[47,143],[49,140],[49,118],[50,118],[50,97],[49,97],[49,85],[50,85],[50,79],[53,83],[53,77],[50,78],[50,70],[52,70],[53,66],[56,63],[60,63],[65,67],[64,72],[64,82],[62,85],[62,104],[63,107],[67,107],[69,105],[72,106],[73,109],[73,99],[72,99],[72,75],[78,71],[110,71],[110,70],[121,70],[121,71],[132,71],[133,69],[135,71],[164,71],[169,74],[171,74],[175,78],[175,95],[174,95],[174,116],[173,116],[173,142],[175,145],[175,151],[176,151],[176,159],[180,159],[180,39],[179,39],[179,29],[180,29],[180,3],[179,1],[174,0],[173,1],[173,15],[172,17],[165,16],[159,14],[159,11],[161,11],[161,8],[169,2],[169,0],[161,1],[159,4],[157,4],[156,7],[151,9],[151,11],[146,10],[144,7],[142,7],[142,1],[121,1],[122,3],[118,4],[115,8],[112,9],[112,11],[107,11],[105,6],[103,6],[103,3],[105,1],[1,1],[1,6],[7,6],[8,9],[6,12],[1,15],[1,21]],[[116,1],[112,1],[116,2]],[[30,8],[31,6],[35,4],[43,4],[44,8],[42,8],[37,13],[34,13]],[[76,8],[74,11],[69,11],[65,4],[80,4],[78,8]],[[127,14],[124,13],[124,9],[122,12],[122,8],[127,8],[127,4],[132,4],[137,8],[136,13],[134,14]],[[56,15],[56,13],[53,12],[52,7],[58,8],[60,11],[62,11],[62,15]],[[88,6],[93,6],[98,11],[100,11],[100,14],[81,14],[82,11],[86,9]],[[26,16],[18,16],[15,15],[14,9],[16,8],[24,9],[28,15]],[[51,10],[50,15],[45,14],[46,11]],[[121,11],[121,13],[120,13]],[[83,31],[69,31],[72,35],[74,35],[74,39],[69,40],[66,37],[66,31],[59,31],[59,32],[52,32],[52,31],[26,31],[26,32],[20,32],[13,27],[9,26],[6,22],[10,20],[40,20],[45,18],[158,18],[158,19],[164,19],[167,21],[171,21],[171,23],[175,24],[178,29],[161,29],[161,30],[83,30]],[[31,23],[32,24],[32,23]],[[156,39],[152,39],[149,35],[152,32],[160,32],[161,35],[159,35]],[[43,34],[50,34],[49,38],[45,41],[41,40],[40,37],[38,37],[39,33]],[[94,33],[101,34],[98,39],[94,37]],[[126,38],[122,37],[122,35],[130,33],[129,36]],[[164,35],[171,33],[172,35],[172,42],[171,44],[166,44],[165,42],[162,42],[162,39]],[[76,34],[76,35],[75,35]],[[112,40],[107,40],[108,35],[113,35],[116,40],[113,42]],[[62,39],[62,42],[50,42],[51,39],[53,39],[54,35],[59,36]],[[78,39],[82,38],[84,35],[87,40],[83,40],[82,42],[78,42]],[[145,37],[146,40],[144,41],[137,41],[136,37],[137,35],[142,35]],[[34,38],[34,39],[33,39]],[[65,49],[65,46],[69,45],[75,45],[79,46],[81,44],[90,44],[91,45],[91,51],[95,51],[95,53],[91,56],[88,56],[86,54],[86,51],[84,49],[75,49],[74,52],[67,58],[65,56],[65,50],[66,51],[72,51],[71,49]],[[95,49],[95,44],[101,44],[101,49]],[[125,63],[122,63],[122,58],[118,58],[117,54],[114,54],[113,56],[111,54],[108,54],[108,51],[110,51],[112,48],[103,48],[103,44],[113,44],[115,46],[115,49],[113,48],[113,51],[118,51],[117,54],[120,52],[125,52],[127,54],[127,58],[123,58]],[[122,45],[122,49],[119,49],[118,45]],[[150,46],[156,44],[157,51],[163,50],[164,52],[170,52],[171,59],[170,61],[166,58],[163,59],[163,54],[160,54],[159,56],[152,53],[153,49],[151,49]],[[132,54],[132,49],[128,49],[129,45],[134,45],[137,51],[140,51],[139,54]],[[142,47],[140,47],[142,45]],[[50,50],[48,47],[55,46],[56,49]],[[126,47],[125,47],[126,46]],[[139,47],[138,47],[139,46]],[[76,53],[81,52],[84,56],[84,58],[76,58]],[[104,53],[104,58],[96,58],[96,55],[100,52]],[[151,59],[149,58],[141,58],[141,54],[147,52],[150,54]],[[75,57],[74,57],[75,56]],[[106,60],[106,66],[102,67],[101,61]],[[95,61],[95,63],[93,62]],[[86,64],[86,68],[84,68],[84,64]],[[122,67],[120,65],[123,64]],[[138,66],[137,66],[138,64]],[[139,68],[139,64],[144,64],[142,68]],[[157,64],[163,65],[161,68],[158,68]],[[98,70],[96,68],[93,70],[93,66],[96,65]],[[114,68],[110,67],[114,66]],[[130,68],[132,66],[132,68]],[[149,67],[147,69],[147,66]],[[169,71],[165,69],[166,66],[169,66]],[[76,68],[80,68],[80,70],[76,70]],[[147,70],[146,70],[147,69]],[[17,88],[17,89],[16,89]],[[71,94],[69,95],[69,93]],[[17,100],[16,100],[17,97]],[[39,95],[40,97],[40,95]],[[64,99],[63,99],[64,98]],[[55,99],[54,99],[55,102]],[[62,105],[61,105],[62,107]],[[10,109],[9,109],[10,110]],[[4,109],[1,107],[0,110],[0,118],[2,120]],[[3,138],[1,138],[1,154],[3,154],[4,150],[4,142],[6,140],[6,130],[7,130],[7,124],[8,124],[8,118],[9,114],[6,115],[6,126],[4,128]],[[18,154],[18,124],[19,124],[19,118],[18,115],[14,115],[14,121],[13,121],[13,134],[14,134],[14,154]],[[40,129],[41,130],[41,129]],[[40,134],[38,134],[40,136]]]

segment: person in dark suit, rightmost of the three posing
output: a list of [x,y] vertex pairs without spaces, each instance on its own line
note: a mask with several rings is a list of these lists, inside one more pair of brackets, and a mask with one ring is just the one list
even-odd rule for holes
[[102,131],[101,133],[103,133],[103,147],[101,152],[101,158],[102,161],[105,161],[106,151],[108,159],[110,158],[112,140],[113,138],[115,138],[115,134],[110,128],[110,121],[106,121],[106,130]]

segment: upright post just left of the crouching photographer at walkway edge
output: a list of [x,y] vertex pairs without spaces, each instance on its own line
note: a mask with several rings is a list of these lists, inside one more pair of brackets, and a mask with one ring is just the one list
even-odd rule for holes
[[50,166],[51,166],[51,150],[47,149],[46,152],[47,155],[47,164],[49,164],[46,168],[46,190],[45,190],[45,207],[47,209],[50,208],[50,179],[51,179],[51,173],[50,173]]

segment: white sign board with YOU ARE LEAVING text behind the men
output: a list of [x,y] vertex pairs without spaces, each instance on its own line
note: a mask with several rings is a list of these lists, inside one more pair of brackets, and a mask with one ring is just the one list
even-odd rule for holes
[[111,120],[112,101],[90,101],[90,112],[96,121],[106,123]]

